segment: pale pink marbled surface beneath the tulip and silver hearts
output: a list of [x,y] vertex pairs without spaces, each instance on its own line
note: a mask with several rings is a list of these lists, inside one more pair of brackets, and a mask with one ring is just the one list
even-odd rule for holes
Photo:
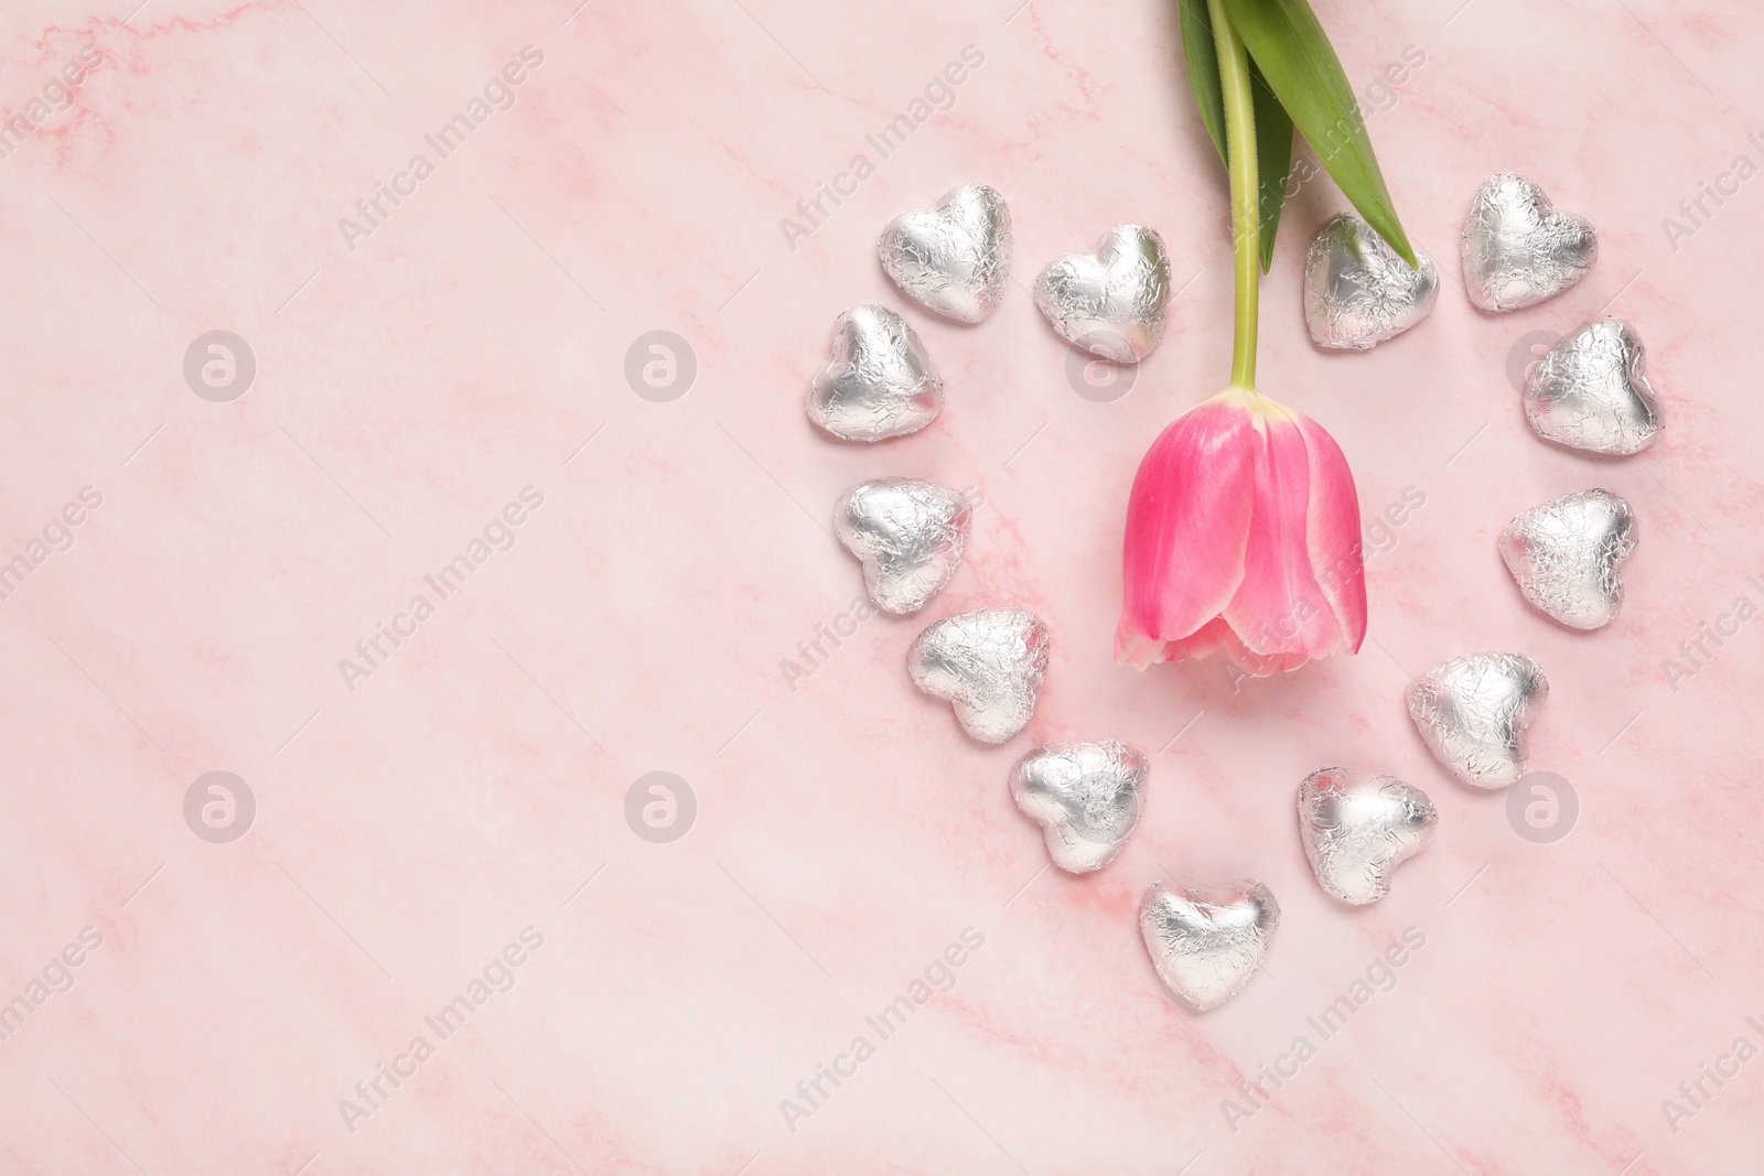
[[[1371,536],[1365,652],[1238,686],[1110,656],[1132,469],[1222,384],[1230,333],[1222,176],[1168,4],[134,2],[0,16],[0,104],[28,123],[0,159],[0,559],[28,564],[0,601],[0,1000],[25,1001],[0,1172],[1764,1165],[1764,1060],[1722,1061],[1764,1046],[1764,631],[1704,638],[1688,677],[1663,665],[1764,603],[1753,5],[1318,4],[1445,289],[1371,354],[1316,351],[1298,270],[1341,199],[1307,183],[1261,384],[1334,432],[1367,518],[1424,502]],[[524,46],[543,60],[512,71],[513,106],[425,146]],[[983,63],[882,159],[866,136],[967,46]],[[1406,49],[1425,62],[1379,83]],[[416,153],[432,175],[400,182]],[[873,175],[787,242],[780,219],[859,153]],[[1455,233],[1503,169],[1603,236],[1588,280],[1496,317],[1462,293]],[[1117,220],[1164,234],[1184,287],[1124,398],[1074,395],[1021,286],[958,328],[887,284],[882,222],[970,180],[1011,201],[1021,284]],[[415,190],[346,242],[376,182]],[[1730,194],[1692,226],[1704,182]],[[900,307],[944,370],[923,434],[838,446],[803,418],[857,301]],[[1633,460],[1536,441],[1506,377],[1524,335],[1600,310],[1635,323],[1665,400]],[[224,404],[180,367],[210,330],[256,356]],[[651,330],[697,356],[674,402],[623,374]],[[878,474],[984,494],[928,615],[1051,624],[1009,748],[910,688],[910,621],[863,621],[787,682],[799,642],[852,628],[827,517]],[[1494,552],[1514,513],[1588,485],[1641,520],[1626,610],[1593,635],[1528,610]],[[86,487],[101,504],[53,525]],[[527,487],[542,502],[505,532]],[[423,577],[487,527],[512,547],[439,599]],[[432,615],[397,621],[418,594]],[[415,633],[346,682],[381,622]],[[1582,808],[1559,843],[1515,836],[1408,721],[1409,675],[1475,649],[1551,677],[1533,762]],[[1154,755],[1101,876],[1044,871],[1005,793],[1048,737]],[[1337,762],[1441,811],[1372,908],[1327,899],[1297,839],[1300,778]],[[213,770],[258,804],[224,845],[183,815]],[[669,845],[624,816],[651,770],[697,799]],[[1138,942],[1166,867],[1254,875],[1284,906],[1267,975],[1207,1016]],[[1424,945],[1388,991],[1316,1040],[1307,1017],[1383,980],[1406,929]],[[882,1040],[866,1016],[965,931],[983,945],[953,987]],[[471,1014],[443,1038],[425,1017],[455,996]],[[873,1056],[787,1116],[861,1035]],[[1228,1121],[1300,1035],[1314,1056]],[[381,1065],[407,1077],[360,1100]],[[1704,1065],[1736,1074],[1693,1105],[1679,1083]]]

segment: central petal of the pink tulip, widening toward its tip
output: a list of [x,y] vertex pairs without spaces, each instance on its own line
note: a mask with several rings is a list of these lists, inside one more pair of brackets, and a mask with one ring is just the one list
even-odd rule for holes
[[1311,450],[1298,423],[1302,418],[1268,402],[1261,420],[1254,450],[1256,517],[1244,554],[1244,584],[1222,615],[1251,654],[1284,668],[1293,656],[1295,665],[1302,665],[1307,658],[1337,652],[1344,640],[1311,562]]

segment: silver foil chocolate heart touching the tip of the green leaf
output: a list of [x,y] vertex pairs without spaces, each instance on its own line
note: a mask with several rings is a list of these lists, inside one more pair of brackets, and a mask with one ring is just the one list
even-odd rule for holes
[[1397,256],[1372,226],[1341,212],[1305,254],[1305,326],[1323,347],[1364,351],[1427,317],[1439,296],[1439,270]]

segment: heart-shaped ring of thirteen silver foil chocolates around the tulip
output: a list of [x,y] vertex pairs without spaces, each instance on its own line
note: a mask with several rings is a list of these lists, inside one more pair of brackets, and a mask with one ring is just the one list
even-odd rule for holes
[[[901,213],[882,229],[882,268],[921,307],[961,323],[986,319],[1011,273],[1011,212],[984,185],[963,185],[935,210]],[[1503,312],[1552,298],[1593,268],[1598,233],[1554,208],[1519,175],[1491,178],[1462,229],[1469,298]],[[1402,261],[1362,219],[1334,217],[1305,259],[1304,314],[1321,347],[1364,351],[1427,317],[1439,294],[1434,263]],[[1145,360],[1164,335],[1170,261],[1152,229],[1120,224],[1094,252],[1048,264],[1034,284],[1048,323],[1073,346],[1115,363]],[[930,425],[944,397],[924,344],[894,310],[861,305],[838,317],[833,356],[813,377],[808,418],[841,441],[877,443]],[[1596,319],[1563,339],[1524,388],[1531,428],[1559,446],[1602,455],[1646,448],[1660,407],[1641,339],[1621,319]],[[967,497],[910,478],[852,487],[834,510],[840,543],[863,564],[882,612],[921,612],[954,577],[972,525]],[[1588,488],[1514,518],[1498,548],[1526,601],[1563,626],[1596,629],[1623,601],[1618,578],[1635,548],[1633,511]],[[1030,721],[1048,670],[1048,626],[1011,607],[944,617],[907,652],[907,672],[944,698],[972,739],[1004,744]],[[1544,670],[1517,652],[1452,658],[1408,689],[1408,707],[1434,756],[1459,781],[1505,788],[1526,770],[1526,728],[1549,695]],[[1037,822],[1058,869],[1087,875],[1122,850],[1143,808],[1148,758],[1122,742],[1050,742],[1009,772],[1018,808]],[[1351,904],[1390,894],[1392,873],[1424,850],[1436,811],[1401,779],[1327,767],[1298,785],[1298,836],[1318,885]],[[1140,931],[1162,982],[1203,1010],[1231,1000],[1261,966],[1279,903],[1259,882],[1155,883]]]

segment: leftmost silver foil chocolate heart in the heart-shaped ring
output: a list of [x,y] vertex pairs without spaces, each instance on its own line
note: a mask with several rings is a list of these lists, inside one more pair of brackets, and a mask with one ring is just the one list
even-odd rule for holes
[[887,307],[852,307],[833,326],[833,358],[808,388],[808,420],[843,441],[919,432],[944,404],[944,381],[919,333]]

